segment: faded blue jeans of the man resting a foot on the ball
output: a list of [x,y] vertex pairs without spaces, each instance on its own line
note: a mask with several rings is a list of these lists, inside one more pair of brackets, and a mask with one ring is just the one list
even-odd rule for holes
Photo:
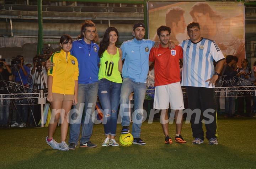
[[130,116],[127,108],[129,104],[129,96],[132,92],[134,93],[134,112],[136,112],[136,115],[133,116],[132,135],[134,138],[138,138],[140,137],[140,128],[142,126],[142,122],[138,121],[142,121],[143,118],[143,102],[146,93],[146,83],[134,82],[129,78],[123,79],[119,102],[122,126],[130,126]]

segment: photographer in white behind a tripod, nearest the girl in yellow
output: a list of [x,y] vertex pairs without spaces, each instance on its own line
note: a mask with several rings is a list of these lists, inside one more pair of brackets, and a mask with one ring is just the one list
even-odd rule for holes
[[47,68],[43,56],[36,55],[33,58],[33,68],[30,71],[30,75],[32,76],[34,89],[47,88]]

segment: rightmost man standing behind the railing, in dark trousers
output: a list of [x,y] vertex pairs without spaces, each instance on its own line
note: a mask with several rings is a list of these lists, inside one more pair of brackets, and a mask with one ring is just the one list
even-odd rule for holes
[[[251,68],[248,68],[249,62],[247,59],[241,60],[242,68],[237,70],[237,76],[241,78],[238,86],[253,86],[255,81],[254,71],[251,71]],[[246,91],[240,91],[238,93],[238,115],[236,117],[244,116],[244,100],[246,102],[246,116],[252,117],[251,115],[251,93]]]

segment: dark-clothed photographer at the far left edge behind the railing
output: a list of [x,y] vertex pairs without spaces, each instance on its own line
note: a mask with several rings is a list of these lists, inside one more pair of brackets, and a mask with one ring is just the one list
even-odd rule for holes
[[[4,66],[6,69],[4,69]],[[5,59],[0,58],[0,94],[7,94],[7,87],[9,86],[8,82],[9,77],[11,75],[11,69],[8,64],[5,63]],[[4,96],[5,98],[5,96]],[[0,104],[0,127],[7,128],[8,127],[8,121],[9,121],[9,105],[5,105],[7,103],[7,100],[3,103],[3,105]]]

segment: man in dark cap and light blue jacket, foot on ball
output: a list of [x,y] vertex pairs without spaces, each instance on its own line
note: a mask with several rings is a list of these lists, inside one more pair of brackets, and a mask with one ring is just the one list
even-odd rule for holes
[[142,22],[133,26],[134,39],[123,42],[121,49],[124,60],[122,76],[123,83],[120,94],[120,115],[122,117],[122,134],[129,132],[130,116],[129,95],[134,93],[134,115],[132,125],[133,144],[145,145],[140,138],[143,120],[143,102],[146,93],[146,78],[149,70],[149,52],[154,46],[154,41],[143,39],[145,36],[145,25]]

